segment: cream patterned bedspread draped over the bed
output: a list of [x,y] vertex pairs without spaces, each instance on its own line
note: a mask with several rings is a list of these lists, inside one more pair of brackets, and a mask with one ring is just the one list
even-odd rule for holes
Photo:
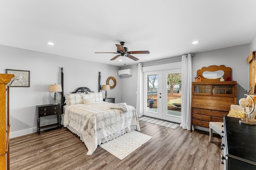
[[[124,112],[127,107],[127,112]],[[76,133],[92,154],[101,143],[134,129],[140,131],[138,115],[132,106],[108,102],[65,106],[64,127]]]

